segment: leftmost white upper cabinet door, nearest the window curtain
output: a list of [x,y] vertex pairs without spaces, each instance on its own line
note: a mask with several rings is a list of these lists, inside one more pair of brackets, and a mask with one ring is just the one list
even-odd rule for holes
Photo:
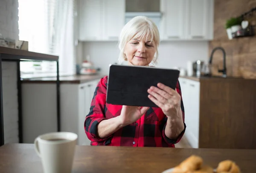
[[79,40],[102,38],[102,0],[79,0]]

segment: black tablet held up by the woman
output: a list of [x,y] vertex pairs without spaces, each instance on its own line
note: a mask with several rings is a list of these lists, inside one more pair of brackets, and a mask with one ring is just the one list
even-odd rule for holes
[[163,83],[176,88],[180,71],[148,66],[110,65],[106,102],[112,105],[158,107],[148,98],[148,88]]

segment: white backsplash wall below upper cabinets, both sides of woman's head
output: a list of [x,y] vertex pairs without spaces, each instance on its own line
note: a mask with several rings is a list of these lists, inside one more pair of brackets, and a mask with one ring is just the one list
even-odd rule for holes
[[[82,52],[79,56],[85,59],[86,55],[90,55],[90,60],[93,64],[102,68],[102,74],[108,74],[108,65],[118,60],[118,43],[85,42],[81,44]],[[156,66],[161,68],[186,68],[186,62],[189,60],[207,61],[207,59],[207,41],[165,41],[160,43],[158,64]]]

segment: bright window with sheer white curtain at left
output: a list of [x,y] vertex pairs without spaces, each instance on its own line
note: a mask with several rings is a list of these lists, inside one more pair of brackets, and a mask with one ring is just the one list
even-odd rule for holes
[[[18,0],[19,40],[29,51],[59,56],[60,75],[75,73],[74,0]],[[20,62],[21,77],[56,76],[56,62]]]

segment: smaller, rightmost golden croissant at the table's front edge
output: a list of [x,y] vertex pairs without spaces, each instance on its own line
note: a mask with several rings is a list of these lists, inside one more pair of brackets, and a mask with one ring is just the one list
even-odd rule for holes
[[218,164],[217,173],[240,173],[239,167],[231,160],[224,160]]

